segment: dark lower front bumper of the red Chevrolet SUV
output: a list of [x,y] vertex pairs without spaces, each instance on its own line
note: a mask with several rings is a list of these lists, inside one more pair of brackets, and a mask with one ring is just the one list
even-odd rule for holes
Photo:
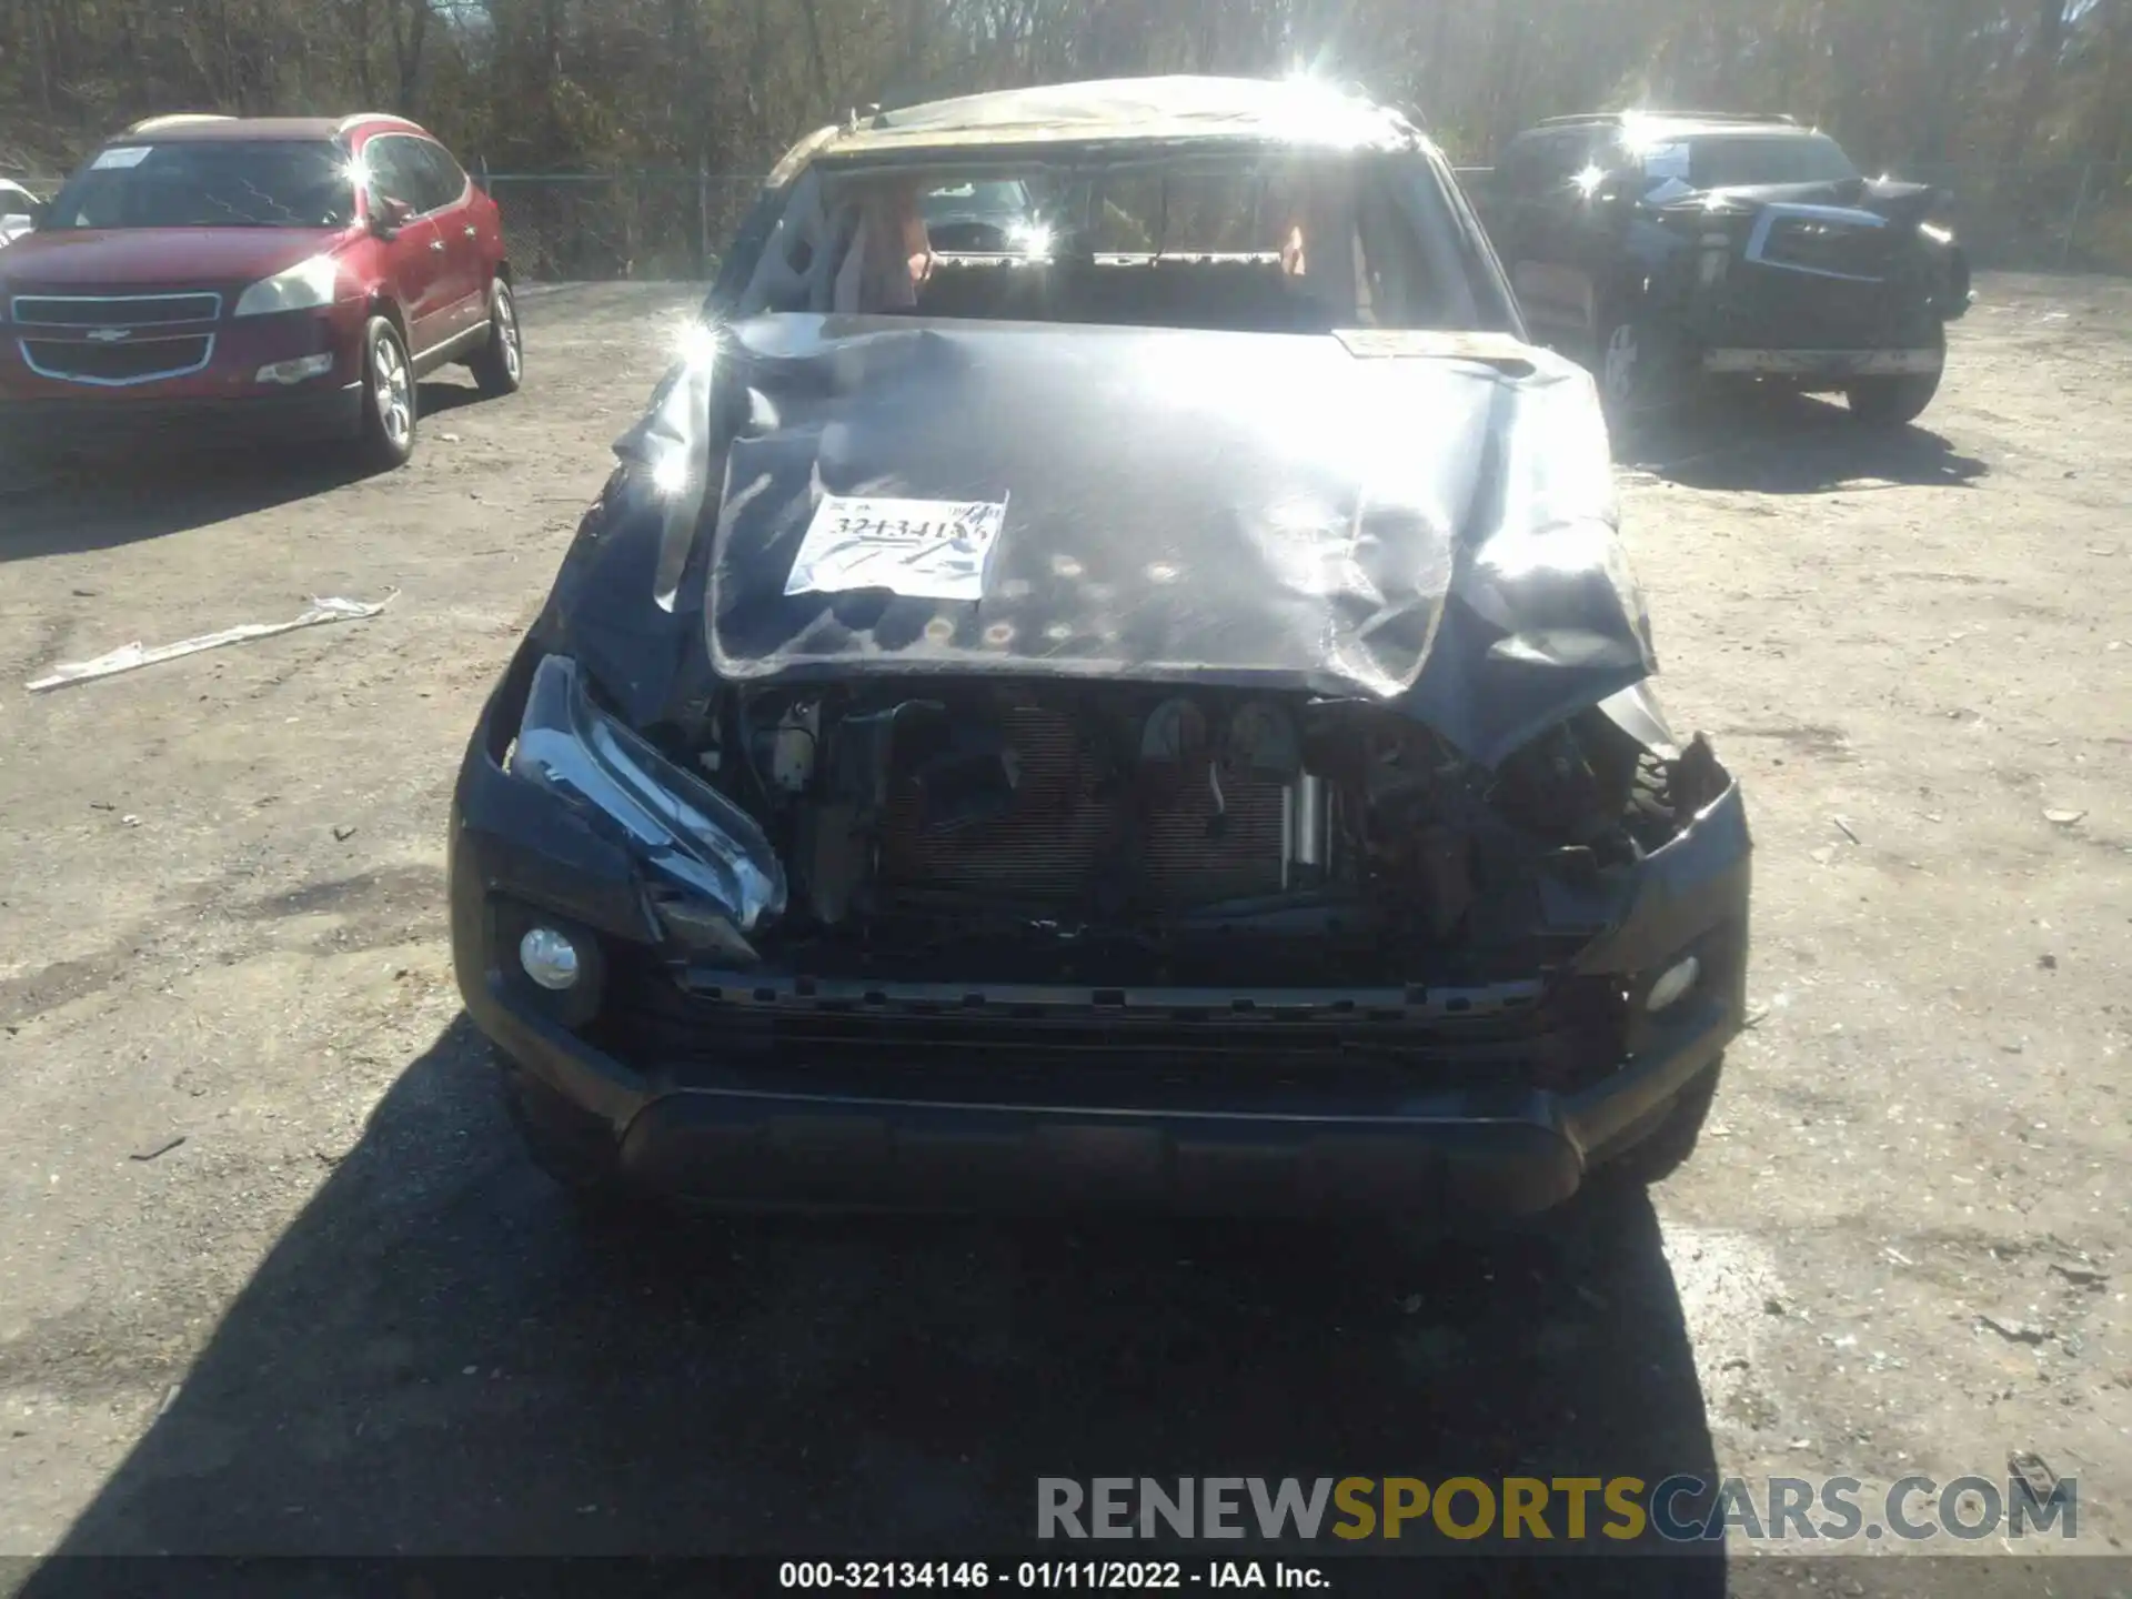
[[243,399],[0,401],[0,443],[32,454],[324,443],[360,431],[360,384]]

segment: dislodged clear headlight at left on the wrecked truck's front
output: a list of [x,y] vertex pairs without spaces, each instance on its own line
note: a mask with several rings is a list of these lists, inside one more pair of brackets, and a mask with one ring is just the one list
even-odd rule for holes
[[785,868],[755,819],[599,710],[569,657],[535,667],[510,772],[603,814],[648,868],[742,932],[782,915]]

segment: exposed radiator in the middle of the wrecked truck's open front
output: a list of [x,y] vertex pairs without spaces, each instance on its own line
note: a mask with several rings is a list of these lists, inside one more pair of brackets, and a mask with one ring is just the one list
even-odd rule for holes
[[1188,908],[1281,889],[1286,787],[1237,774],[1222,780],[1224,823],[1205,770],[1153,800],[1126,785],[1098,793],[1100,770],[1075,723],[1040,708],[1000,721],[1019,782],[1002,817],[927,831],[923,797],[898,785],[881,846],[881,876],[895,887],[936,887],[1079,904],[1126,849],[1138,812],[1136,857],[1162,908]]

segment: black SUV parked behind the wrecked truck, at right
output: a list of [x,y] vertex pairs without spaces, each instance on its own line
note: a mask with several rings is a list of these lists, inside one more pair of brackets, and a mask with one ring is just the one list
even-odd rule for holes
[[1791,117],[1550,117],[1503,149],[1490,224],[1533,337],[1616,418],[1699,373],[1840,390],[1866,422],[1940,388],[1970,266],[1947,194],[1868,179]]

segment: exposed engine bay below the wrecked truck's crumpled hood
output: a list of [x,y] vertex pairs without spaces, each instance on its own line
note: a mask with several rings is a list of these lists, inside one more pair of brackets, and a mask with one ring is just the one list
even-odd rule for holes
[[1488,770],[1377,704],[1162,684],[731,693],[689,744],[785,861],[763,953],[953,942],[1023,974],[1062,944],[1339,979],[1501,951],[1541,870],[1635,861],[1714,797],[1599,710]]

